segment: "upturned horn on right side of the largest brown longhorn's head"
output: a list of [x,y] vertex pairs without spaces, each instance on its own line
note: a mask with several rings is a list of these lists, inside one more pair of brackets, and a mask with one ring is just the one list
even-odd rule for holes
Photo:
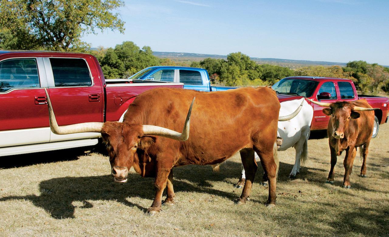
[[191,107],[189,107],[188,114],[186,116],[184,128],[182,129],[182,133],[179,133],[177,131],[170,130],[168,128],[163,128],[159,126],[154,125],[143,125],[143,133],[144,135],[156,135],[161,137],[167,137],[172,138],[174,140],[178,141],[186,141],[189,138],[189,124],[191,120],[191,112],[192,112],[192,106],[195,102],[195,98],[192,100]]

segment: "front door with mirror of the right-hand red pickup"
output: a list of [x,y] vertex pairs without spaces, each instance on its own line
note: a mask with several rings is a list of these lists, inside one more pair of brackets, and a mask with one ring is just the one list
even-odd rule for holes
[[[330,94],[329,98],[324,99],[324,98],[320,97],[320,93],[322,93],[322,92],[328,92]],[[338,96],[336,94],[335,83],[333,83],[332,81],[324,82],[320,86],[319,90],[316,93],[316,99],[318,101],[324,102],[324,103],[336,102],[338,99]],[[312,125],[314,125],[314,126],[311,128],[311,130],[327,129],[329,116],[325,115],[322,112],[322,109],[324,109],[324,107],[318,106],[317,104],[312,104],[312,106],[314,108],[314,117],[312,120],[315,120],[315,121],[312,121]]]

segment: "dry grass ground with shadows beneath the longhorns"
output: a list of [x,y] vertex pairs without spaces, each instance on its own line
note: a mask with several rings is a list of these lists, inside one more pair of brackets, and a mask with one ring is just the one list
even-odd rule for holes
[[[354,161],[352,189],[341,187],[343,156],[335,185],[329,171],[328,138],[308,142],[309,159],[298,178],[287,178],[294,149],[279,152],[277,206],[264,206],[268,190],[253,185],[251,201],[235,206],[242,189],[240,157],[219,173],[210,166],[174,168],[176,204],[159,216],[145,211],[153,180],[130,173],[114,183],[108,157],[82,149],[2,157],[0,236],[389,236],[389,126],[370,145],[367,178]],[[359,156],[359,154],[358,154]],[[16,166],[16,167],[15,167]]]

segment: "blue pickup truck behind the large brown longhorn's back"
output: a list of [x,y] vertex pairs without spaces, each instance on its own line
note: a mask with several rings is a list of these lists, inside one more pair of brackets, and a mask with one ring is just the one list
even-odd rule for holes
[[177,67],[177,66],[154,66],[139,71],[128,79],[134,82],[138,80],[148,82],[181,82],[185,89],[198,91],[222,91],[235,89],[233,86],[211,86],[208,72],[203,68]]

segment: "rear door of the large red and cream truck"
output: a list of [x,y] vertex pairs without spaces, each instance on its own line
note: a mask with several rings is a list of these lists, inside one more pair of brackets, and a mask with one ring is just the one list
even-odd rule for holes
[[[103,122],[102,85],[91,58],[44,57],[43,61],[58,125]],[[51,132],[50,142],[93,137],[100,133]]]

